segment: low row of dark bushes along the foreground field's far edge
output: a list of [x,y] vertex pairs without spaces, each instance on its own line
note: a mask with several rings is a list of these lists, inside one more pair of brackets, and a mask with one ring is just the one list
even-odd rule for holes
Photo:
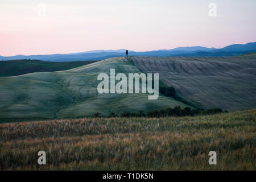
[[[217,113],[223,113],[227,111],[223,111],[220,108],[213,108],[213,109],[191,109],[191,107],[185,107],[184,109],[181,109],[180,106],[175,106],[174,108],[170,107],[167,109],[160,109],[160,110],[153,110],[144,112],[143,110],[140,110],[139,113],[122,113],[122,114],[115,114],[111,113],[109,115],[109,118],[114,117],[183,117],[183,116],[194,116],[194,115],[206,115],[206,114],[217,114]],[[101,113],[95,113],[95,118],[101,117]]]

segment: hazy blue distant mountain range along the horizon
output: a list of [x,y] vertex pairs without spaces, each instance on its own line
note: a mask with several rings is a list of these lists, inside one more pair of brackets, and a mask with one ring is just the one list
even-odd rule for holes
[[[0,56],[0,60],[36,59],[43,61],[85,61],[104,60],[111,57],[124,56],[126,49],[96,50],[78,53],[52,54],[52,55],[16,55]],[[247,44],[232,44],[224,48],[207,48],[201,46],[177,47],[174,49],[160,49],[157,51],[135,52],[129,51],[130,56],[238,56],[245,53],[256,52],[256,42]]]

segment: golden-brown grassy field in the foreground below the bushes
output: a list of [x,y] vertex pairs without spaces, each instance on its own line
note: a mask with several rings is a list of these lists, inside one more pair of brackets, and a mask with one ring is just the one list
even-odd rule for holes
[[[0,169],[255,170],[256,109],[0,124]],[[39,166],[38,152],[47,164]],[[208,152],[217,152],[209,165]]]

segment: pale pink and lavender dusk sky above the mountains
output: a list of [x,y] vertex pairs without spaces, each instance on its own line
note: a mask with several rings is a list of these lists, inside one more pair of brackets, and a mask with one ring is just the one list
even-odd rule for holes
[[0,0],[0,55],[222,48],[255,42],[255,22],[255,0]]

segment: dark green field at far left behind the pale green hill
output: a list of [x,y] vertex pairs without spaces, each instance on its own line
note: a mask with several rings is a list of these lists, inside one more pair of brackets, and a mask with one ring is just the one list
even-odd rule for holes
[[81,67],[96,61],[49,62],[40,60],[0,61],[0,76],[17,76],[35,72],[54,72]]

